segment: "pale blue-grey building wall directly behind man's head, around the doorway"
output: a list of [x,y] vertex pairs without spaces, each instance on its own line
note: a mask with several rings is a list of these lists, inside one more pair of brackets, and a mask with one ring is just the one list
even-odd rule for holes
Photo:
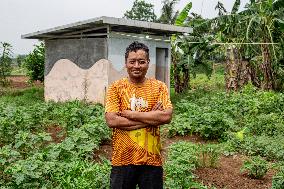
[[[111,36],[108,38],[108,60],[111,62],[109,72],[109,84],[117,79],[127,76],[125,69],[125,49],[133,41],[140,41],[149,47],[150,54],[150,66],[147,72],[147,77],[155,78],[156,73],[156,48],[168,48],[170,52],[170,43],[164,41],[154,41],[145,38],[127,38],[119,36]],[[170,65],[170,59],[168,59],[167,65]],[[169,66],[165,68],[166,75],[169,76]],[[169,86],[169,78],[165,81]]]

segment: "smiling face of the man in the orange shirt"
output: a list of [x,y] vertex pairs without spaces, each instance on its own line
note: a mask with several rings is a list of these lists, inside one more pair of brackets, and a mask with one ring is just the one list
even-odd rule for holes
[[129,52],[125,66],[131,79],[137,81],[144,79],[149,68],[149,59],[146,52],[144,50]]

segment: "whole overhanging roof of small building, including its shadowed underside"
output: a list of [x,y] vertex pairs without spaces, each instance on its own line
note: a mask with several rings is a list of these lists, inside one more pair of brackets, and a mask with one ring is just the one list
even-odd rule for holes
[[21,37],[22,39],[98,37],[106,36],[110,31],[170,36],[172,34],[191,33],[192,28],[103,16],[25,34]]

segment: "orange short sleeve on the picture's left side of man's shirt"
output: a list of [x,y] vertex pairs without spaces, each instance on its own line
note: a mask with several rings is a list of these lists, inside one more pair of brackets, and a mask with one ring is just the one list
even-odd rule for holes
[[119,112],[119,97],[115,84],[107,90],[105,112]]

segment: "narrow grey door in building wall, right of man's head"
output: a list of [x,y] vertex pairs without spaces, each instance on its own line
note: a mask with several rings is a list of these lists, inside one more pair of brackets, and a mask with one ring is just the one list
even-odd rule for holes
[[168,69],[168,49],[156,48],[156,79],[166,82]]

